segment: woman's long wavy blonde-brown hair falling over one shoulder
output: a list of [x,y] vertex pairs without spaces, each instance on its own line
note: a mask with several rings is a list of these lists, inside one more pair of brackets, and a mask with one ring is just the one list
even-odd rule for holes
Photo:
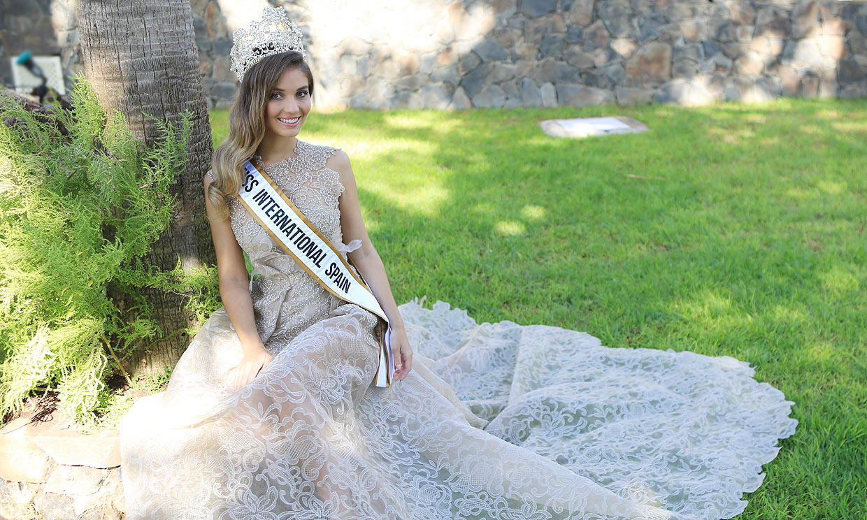
[[313,94],[313,73],[300,53],[282,52],[265,57],[244,73],[244,81],[229,112],[229,137],[225,138],[211,157],[211,168],[217,178],[208,186],[207,197],[219,218],[229,216],[226,203],[241,189],[244,181],[244,161],[256,153],[265,132],[265,105],[286,69],[299,69],[307,75],[310,95]]

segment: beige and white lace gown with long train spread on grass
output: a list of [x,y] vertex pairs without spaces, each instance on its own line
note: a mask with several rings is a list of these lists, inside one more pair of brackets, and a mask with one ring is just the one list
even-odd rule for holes
[[[335,150],[296,152],[268,172],[340,244]],[[374,316],[230,210],[274,361],[231,392],[241,346],[225,309],[211,316],[123,419],[129,518],[728,518],[795,430],[792,403],[733,358],[478,325],[442,302],[401,306],[414,367],[374,387]]]

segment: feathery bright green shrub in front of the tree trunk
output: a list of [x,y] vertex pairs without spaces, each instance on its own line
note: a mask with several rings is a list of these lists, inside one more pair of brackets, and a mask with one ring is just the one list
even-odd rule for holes
[[[108,372],[160,332],[140,289],[197,293],[191,305],[204,315],[214,276],[144,260],[173,214],[190,114],[176,126],[155,120],[160,138],[145,149],[83,76],[72,105],[35,115],[0,100],[3,120],[16,120],[0,124],[0,417],[50,388],[63,411],[93,425]],[[121,313],[110,294],[132,309]]]

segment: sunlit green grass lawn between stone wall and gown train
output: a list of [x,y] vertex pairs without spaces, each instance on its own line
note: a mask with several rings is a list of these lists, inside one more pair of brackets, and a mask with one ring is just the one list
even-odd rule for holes
[[[650,130],[538,127],[613,114]],[[398,302],[748,361],[800,424],[740,518],[867,517],[867,101],[314,112],[301,138],[349,153]]]

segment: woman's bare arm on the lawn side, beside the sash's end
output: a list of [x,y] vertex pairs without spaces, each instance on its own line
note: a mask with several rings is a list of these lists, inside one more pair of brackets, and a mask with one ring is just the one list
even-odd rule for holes
[[358,188],[355,186],[355,174],[349,164],[346,153],[338,150],[329,158],[329,167],[340,174],[340,182],[344,191],[340,197],[340,225],[343,231],[343,244],[353,240],[361,240],[362,247],[352,251],[352,263],[364,276],[364,281],[376,296],[376,301],[388,316],[391,328],[391,354],[394,357],[394,380],[403,380],[413,367],[413,351],[409,347],[407,332],[403,328],[403,319],[397,311],[397,303],[391,294],[388,276],[379,253],[368,237],[368,230],[362,220],[361,206],[358,204]]

